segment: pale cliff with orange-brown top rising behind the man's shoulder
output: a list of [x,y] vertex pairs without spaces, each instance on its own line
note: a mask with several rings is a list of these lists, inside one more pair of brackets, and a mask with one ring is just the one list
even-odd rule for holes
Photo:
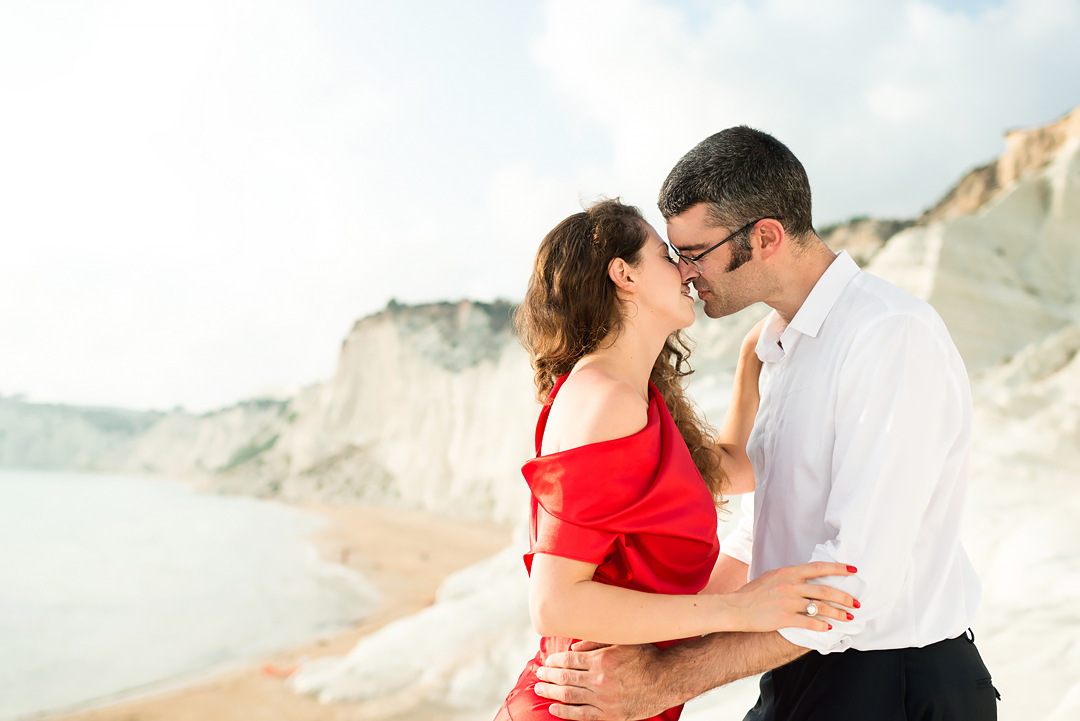
[[867,267],[937,309],[970,371],[1080,319],[1080,109],[1008,140],[981,205],[940,204]]

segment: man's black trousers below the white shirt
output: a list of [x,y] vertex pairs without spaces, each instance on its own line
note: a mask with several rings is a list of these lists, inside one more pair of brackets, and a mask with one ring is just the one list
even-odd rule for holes
[[921,649],[816,651],[767,671],[743,721],[994,721],[997,690],[974,638]]

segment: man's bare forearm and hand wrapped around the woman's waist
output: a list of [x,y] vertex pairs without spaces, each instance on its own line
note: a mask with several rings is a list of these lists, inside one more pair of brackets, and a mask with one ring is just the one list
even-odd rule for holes
[[537,669],[552,716],[575,721],[647,719],[711,689],[783,666],[806,649],[780,634],[725,632],[664,650],[578,643]]

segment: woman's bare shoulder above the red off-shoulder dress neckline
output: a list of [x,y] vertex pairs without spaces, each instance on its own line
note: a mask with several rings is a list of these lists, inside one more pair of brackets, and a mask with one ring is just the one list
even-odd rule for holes
[[623,438],[644,428],[648,419],[649,404],[630,383],[603,368],[581,368],[555,396],[543,452]]

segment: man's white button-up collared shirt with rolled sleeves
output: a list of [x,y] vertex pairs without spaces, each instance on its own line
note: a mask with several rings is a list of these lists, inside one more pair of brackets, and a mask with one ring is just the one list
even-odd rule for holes
[[821,582],[862,603],[833,630],[780,632],[822,653],[964,632],[980,596],[959,540],[971,391],[941,317],[840,253],[786,327],[769,316],[757,355],[754,508],[723,552],[750,579],[811,560],[855,566]]

